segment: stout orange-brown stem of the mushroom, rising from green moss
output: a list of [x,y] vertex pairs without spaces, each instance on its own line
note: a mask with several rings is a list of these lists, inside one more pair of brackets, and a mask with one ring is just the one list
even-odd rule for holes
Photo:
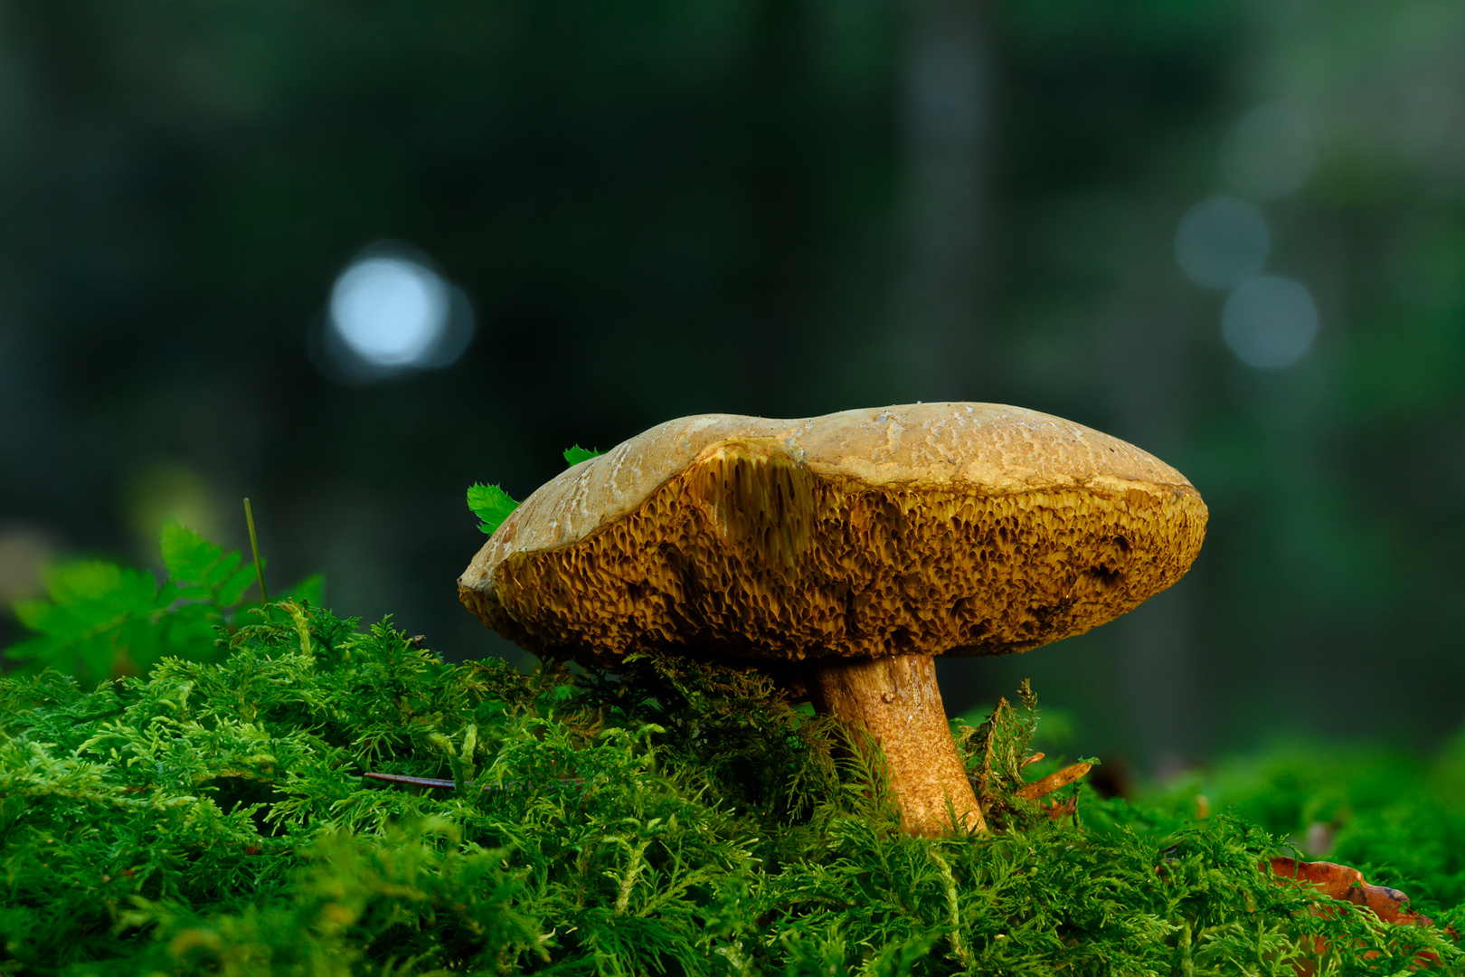
[[932,655],[823,659],[809,669],[815,709],[870,732],[885,753],[901,828],[933,838],[986,831],[982,806],[951,740]]

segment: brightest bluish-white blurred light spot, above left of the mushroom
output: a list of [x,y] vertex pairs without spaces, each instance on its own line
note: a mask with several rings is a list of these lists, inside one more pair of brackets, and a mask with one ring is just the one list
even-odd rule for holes
[[374,366],[415,366],[448,325],[448,290],[404,258],[365,258],[331,289],[331,328]]

